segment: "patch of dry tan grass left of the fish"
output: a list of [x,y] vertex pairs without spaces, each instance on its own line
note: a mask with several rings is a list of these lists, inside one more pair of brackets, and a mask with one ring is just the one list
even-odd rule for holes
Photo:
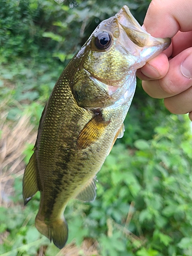
[[[0,111],[3,108],[0,106]],[[26,143],[34,143],[36,134],[30,124],[28,115],[20,116],[16,122],[6,120],[7,112],[0,114],[0,205],[11,204],[9,196],[13,195],[14,175],[23,175],[23,162]]]

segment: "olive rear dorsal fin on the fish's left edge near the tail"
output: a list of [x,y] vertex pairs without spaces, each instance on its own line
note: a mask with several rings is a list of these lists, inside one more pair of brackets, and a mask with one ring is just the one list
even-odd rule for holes
[[39,190],[38,187],[38,170],[36,164],[35,152],[29,160],[29,163],[25,169],[23,178],[23,198],[26,205],[35,193]]

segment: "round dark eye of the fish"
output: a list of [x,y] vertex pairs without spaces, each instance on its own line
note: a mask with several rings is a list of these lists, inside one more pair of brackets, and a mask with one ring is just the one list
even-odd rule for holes
[[95,35],[95,45],[100,50],[105,50],[111,46],[112,38],[108,32],[101,31]]

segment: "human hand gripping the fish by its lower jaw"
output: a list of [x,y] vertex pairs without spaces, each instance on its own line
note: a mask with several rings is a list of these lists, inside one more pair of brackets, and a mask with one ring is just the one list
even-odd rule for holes
[[144,28],[155,37],[170,37],[172,45],[137,71],[144,91],[163,98],[174,114],[189,113],[192,121],[192,2],[152,0]]

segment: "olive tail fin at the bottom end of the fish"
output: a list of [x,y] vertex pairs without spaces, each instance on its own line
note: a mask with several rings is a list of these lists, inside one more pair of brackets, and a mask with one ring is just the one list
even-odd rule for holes
[[53,243],[59,249],[65,246],[68,240],[68,224],[65,218],[50,221],[50,223],[47,224],[45,221],[40,220],[37,215],[35,226],[41,234],[44,234],[50,241],[53,240]]

